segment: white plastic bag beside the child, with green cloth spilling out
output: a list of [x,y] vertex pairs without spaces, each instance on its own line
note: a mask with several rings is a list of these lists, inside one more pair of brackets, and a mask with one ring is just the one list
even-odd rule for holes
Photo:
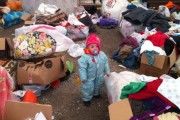
[[112,72],[110,76],[105,76],[105,85],[109,103],[120,101],[121,90],[130,82],[151,82],[157,77],[139,75],[134,72],[123,71],[120,73]]

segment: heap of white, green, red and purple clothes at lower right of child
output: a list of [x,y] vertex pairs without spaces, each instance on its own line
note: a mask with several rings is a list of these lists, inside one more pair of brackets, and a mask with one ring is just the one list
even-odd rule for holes
[[134,115],[131,120],[157,118],[169,111],[180,113],[179,82],[179,78],[168,75],[158,78],[128,71],[112,72],[110,77],[105,78],[110,103],[125,98],[143,102],[144,112]]

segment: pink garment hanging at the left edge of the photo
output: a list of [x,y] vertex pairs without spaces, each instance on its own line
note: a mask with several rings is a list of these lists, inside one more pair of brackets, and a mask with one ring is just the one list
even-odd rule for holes
[[12,89],[12,78],[3,67],[0,67],[0,120],[3,118],[6,101],[11,99]]

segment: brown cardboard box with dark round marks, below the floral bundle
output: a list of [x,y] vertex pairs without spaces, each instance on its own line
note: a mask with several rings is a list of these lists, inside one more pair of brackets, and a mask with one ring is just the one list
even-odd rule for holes
[[40,59],[39,62],[19,61],[17,66],[17,84],[47,85],[66,75],[63,56]]

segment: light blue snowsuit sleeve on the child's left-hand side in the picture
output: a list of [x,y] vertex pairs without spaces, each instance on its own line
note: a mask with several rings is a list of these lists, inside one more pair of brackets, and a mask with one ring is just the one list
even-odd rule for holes
[[87,80],[87,61],[84,56],[82,56],[78,60],[78,66],[79,66],[79,75],[81,81],[86,81]]

